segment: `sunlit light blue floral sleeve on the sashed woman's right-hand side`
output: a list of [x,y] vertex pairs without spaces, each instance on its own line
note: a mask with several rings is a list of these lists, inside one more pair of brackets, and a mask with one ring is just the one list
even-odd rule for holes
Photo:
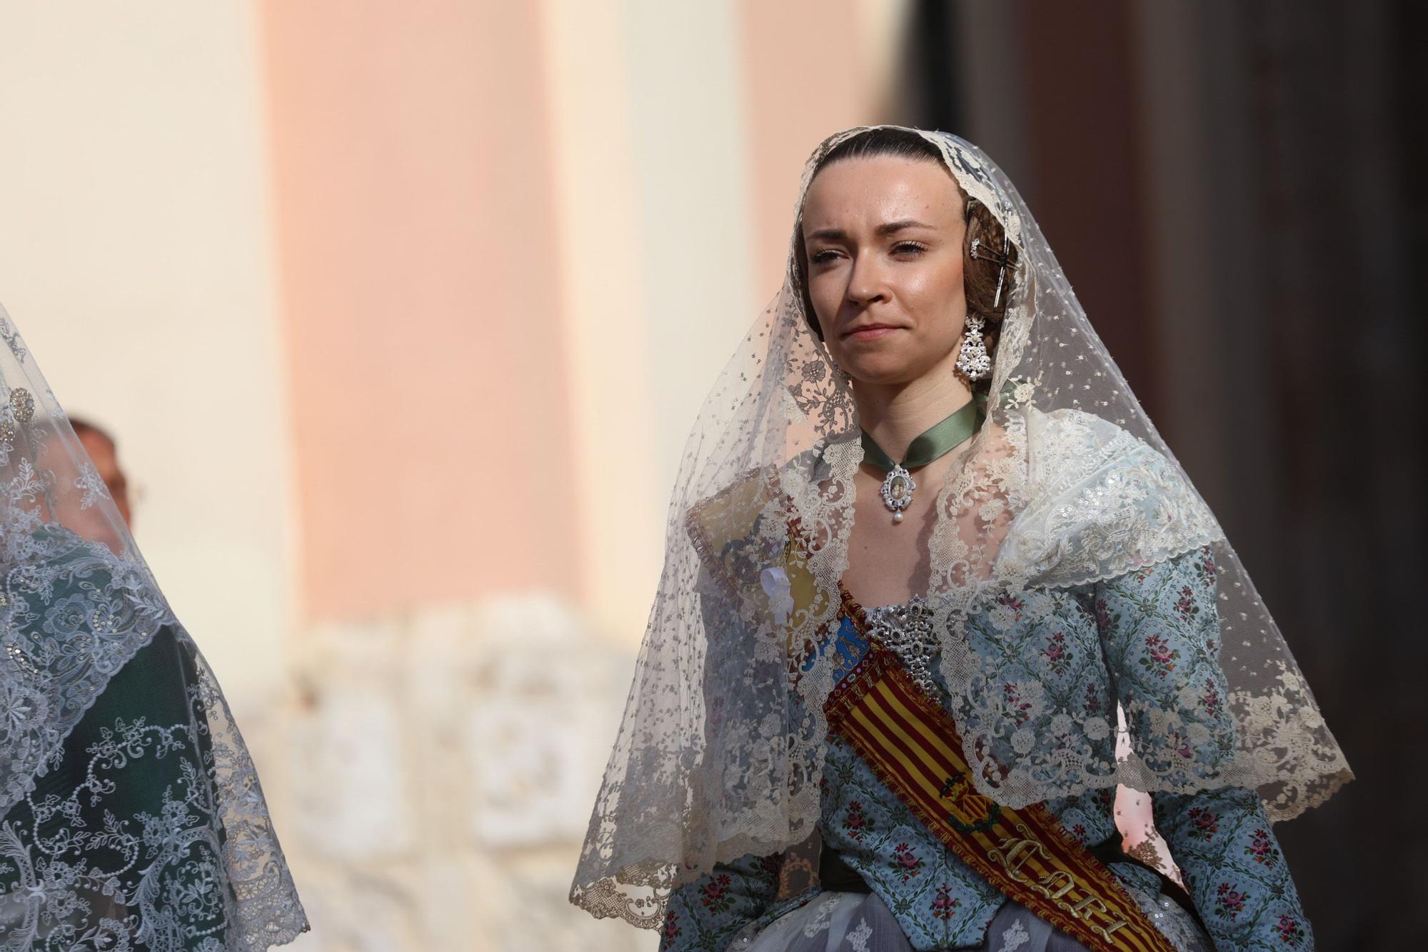
[[[1095,586],[1131,748],[1170,783],[1212,786],[1235,752],[1220,668],[1215,566],[1195,550]],[[1155,793],[1155,826],[1220,949],[1311,949],[1314,939],[1258,795]]]

